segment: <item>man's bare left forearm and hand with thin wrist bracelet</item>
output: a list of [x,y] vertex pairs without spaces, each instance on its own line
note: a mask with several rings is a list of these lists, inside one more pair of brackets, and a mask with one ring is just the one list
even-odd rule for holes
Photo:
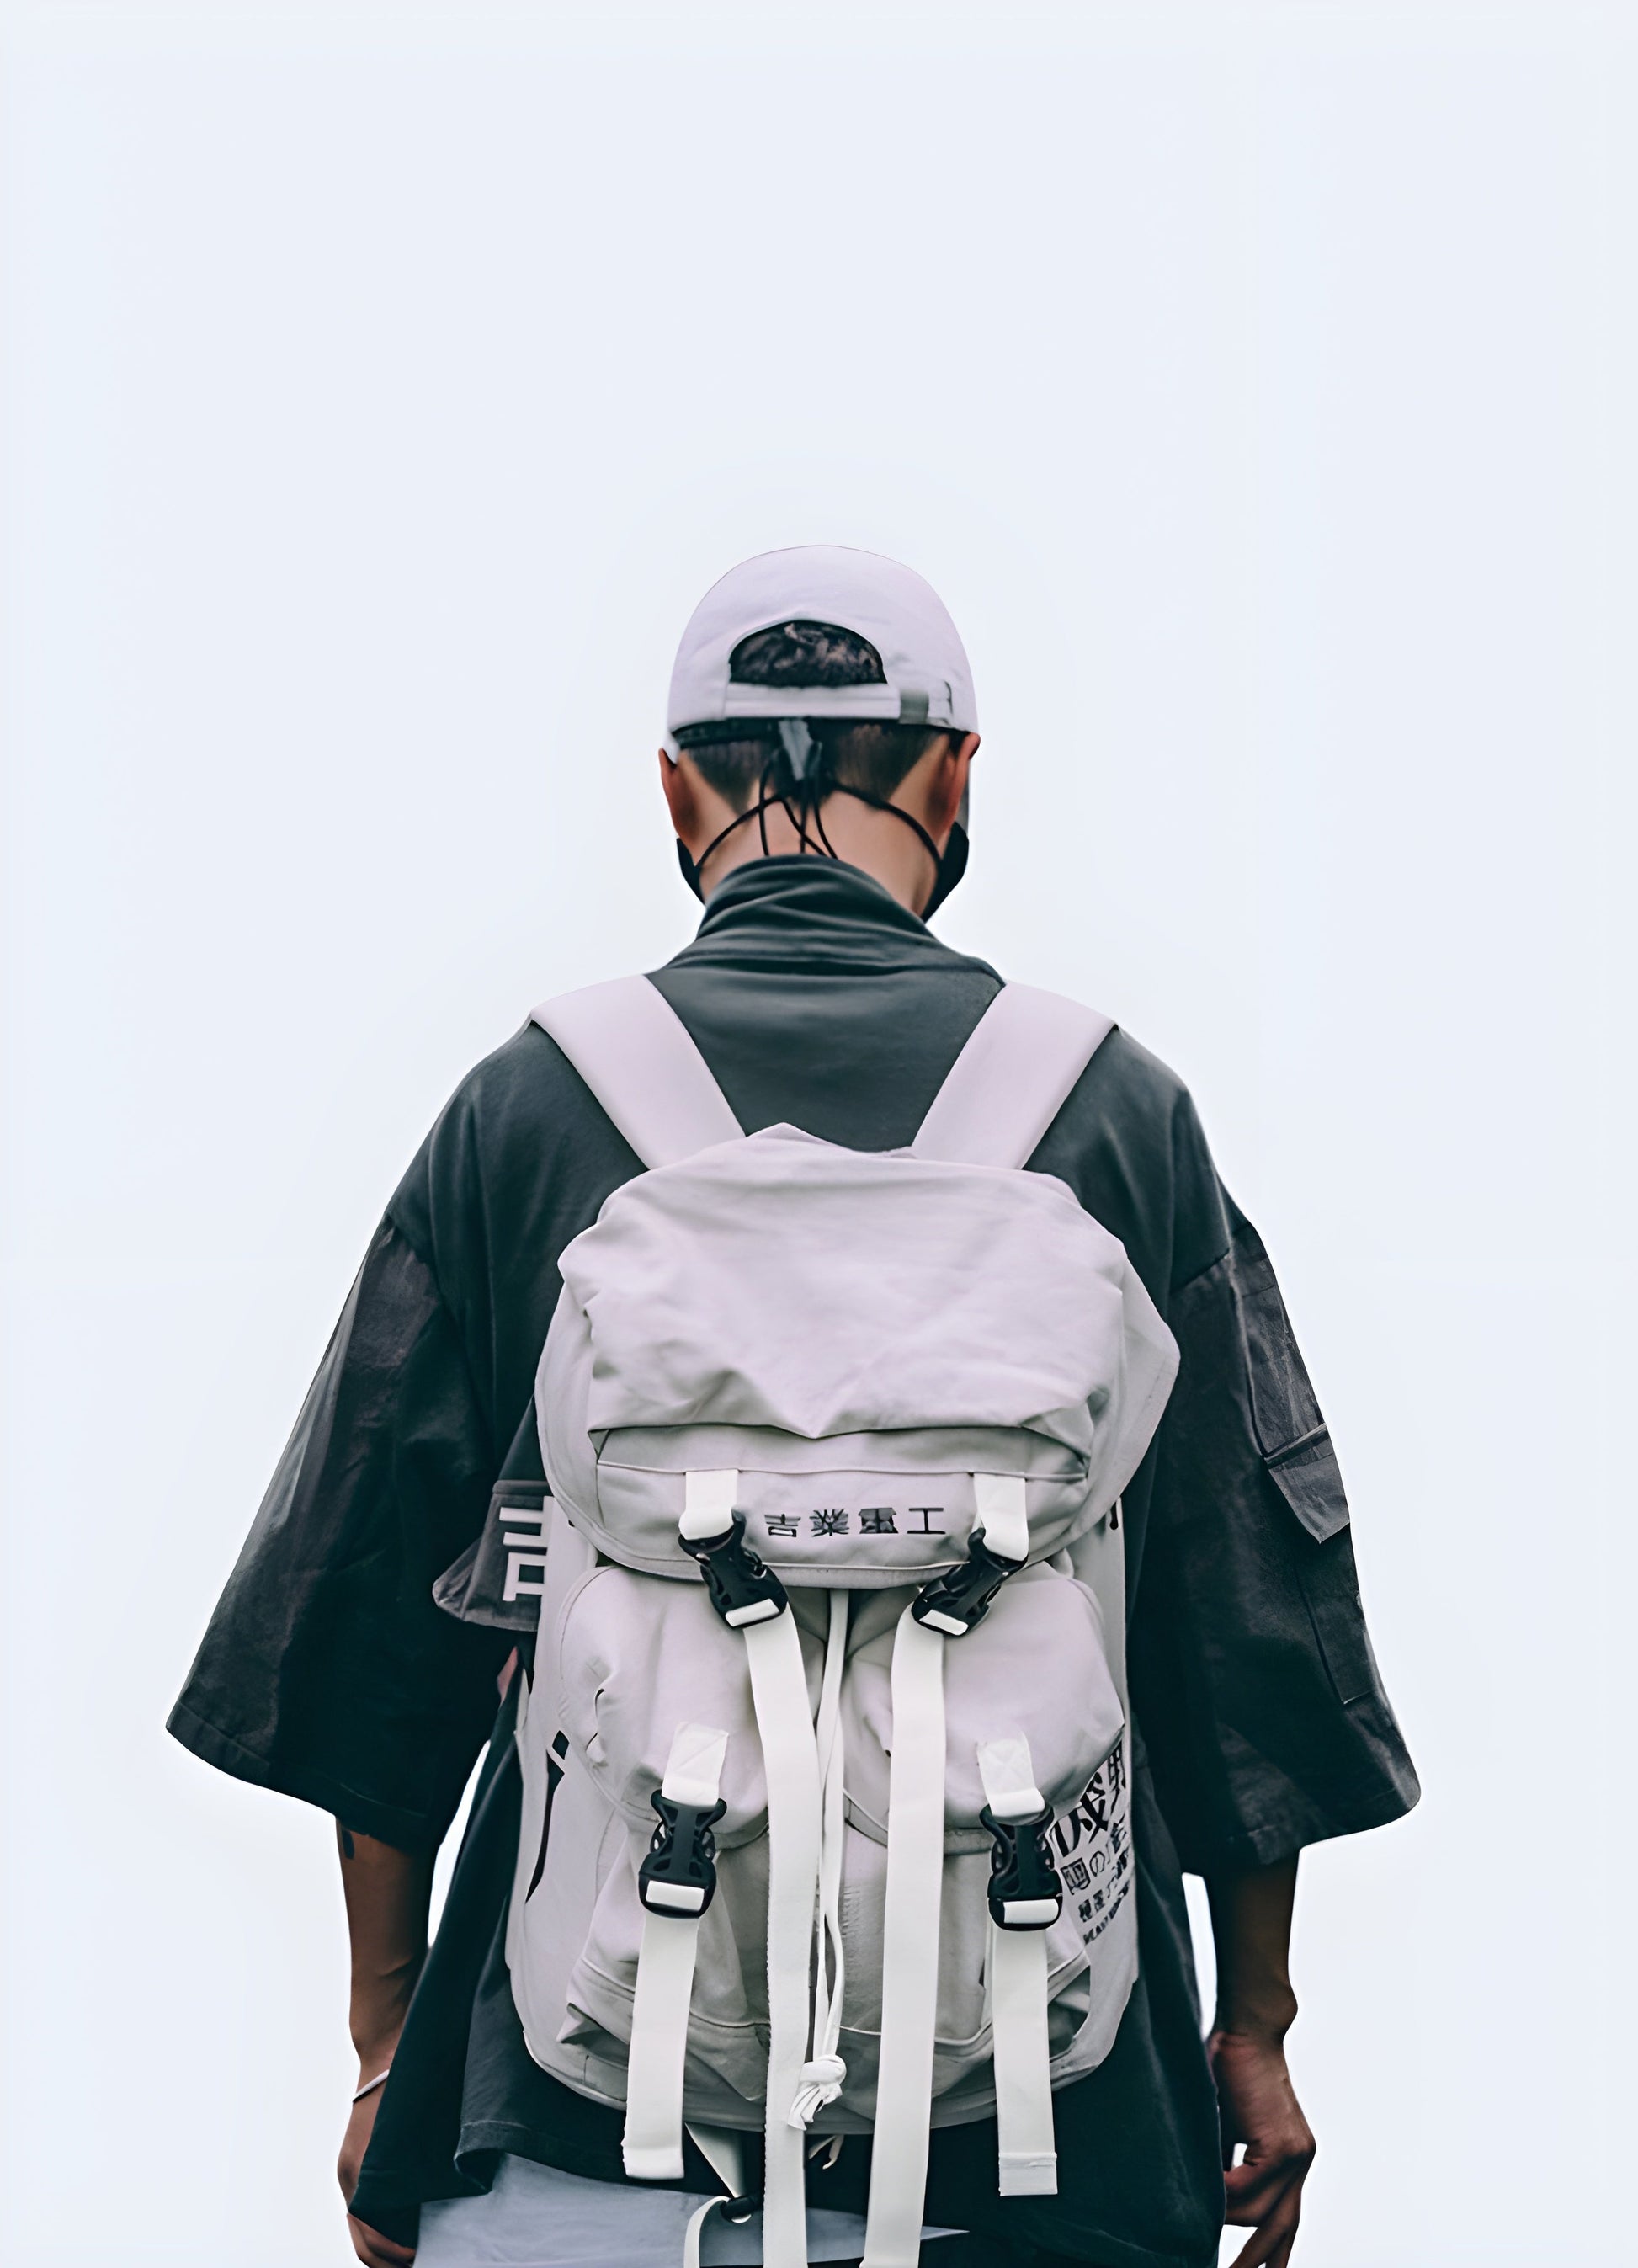
[[[427,1960],[427,1912],[431,1905],[433,1862],[429,1855],[395,1851],[374,1835],[358,1835],[336,1821],[340,1851],[340,1887],[347,1901],[347,1937],[352,1941],[352,2003],[347,2021],[358,2050],[358,2084],[365,2087],[386,2071],[404,2030],[415,1978]],[[343,2198],[358,2186],[358,2168],[370,2146],[381,2089],[354,2102],[340,2146]],[[388,2236],[347,2216],[347,2234],[361,2261],[370,2268],[406,2268],[415,2254]]]

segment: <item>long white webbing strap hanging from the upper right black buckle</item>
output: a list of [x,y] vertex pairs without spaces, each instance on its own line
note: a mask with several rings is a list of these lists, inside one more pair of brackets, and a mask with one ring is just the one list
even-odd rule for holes
[[894,1637],[883,2057],[864,2268],[917,2268],[928,2186],[944,1889],[944,1647],[910,1608]]

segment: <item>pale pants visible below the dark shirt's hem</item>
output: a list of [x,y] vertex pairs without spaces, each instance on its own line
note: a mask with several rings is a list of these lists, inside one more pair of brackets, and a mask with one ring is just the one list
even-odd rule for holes
[[[529,2157],[504,2157],[486,2198],[422,2204],[415,2268],[672,2268],[683,2259],[683,2232],[701,2202],[681,2189],[588,2182]],[[862,2250],[858,2214],[808,2211],[810,2261],[855,2261]],[[703,2259],[712,2268],[760,2261],[762,2216],[737,2227],[712,2216]]]

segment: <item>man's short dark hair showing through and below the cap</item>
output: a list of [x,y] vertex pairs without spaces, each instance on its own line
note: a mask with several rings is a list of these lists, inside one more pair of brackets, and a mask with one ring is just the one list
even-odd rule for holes
[[[728,678],[735,685],[790,687],[792,694],[833,685],[885,685],[883,658],[869,637],[842,631],[835,621],[780,621],[769,631],[751,631],[728,655]],[[792,714],[801,710],[792,701]],[[912,764],[944,739],[944,726],[926,723],[853,723],[846,717],[810,717],[819,751],[817,785],[858,787],[883,803],[901,785]],[[696,723],[676,735],[701,776],[735,812],[749,812],[767,780],[774,794],[794,794],[796,780],[769,726],[751,733],[740,723]]]

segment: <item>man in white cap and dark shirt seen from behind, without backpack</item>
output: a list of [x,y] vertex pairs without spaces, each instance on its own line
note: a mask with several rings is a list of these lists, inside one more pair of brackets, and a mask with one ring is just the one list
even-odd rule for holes
[[[1000,989],[926,928],[966,857],[973,726],[948,615],[871,553],[749,560],[690,621],[660,785],[706,919],[653,984],[746,1132],[907,1143]],[[1059,2193],[998,2200],[994,2127],[987,2146],[944,2127],[923,2252],[1205,2268],[1227,2207],[1255,2232],[1243,2268],[1284,2268],[1314,2157],[1284,2059],[1298,1853],[1409,1810],[1416,1778],[1329,1438],[1187,1091],[1116,1030],[1030,1166],[1123,1241],[1182,1359],[1123,1504],[1139,1982],[1107,2062],[1055,2098]],[[531,2062],[504,1957],[513,1665],[538,1590],[520,1569],[547,1495],[535,1361],[558,1252],[638,1170],[540,1025],[463,1082],[386,1211],[170,1719],[209,1762],[336,1814],[358,2050],[340,2180],[374,2268],[406,2268],[417,2241],[422,2268],[676,2259],[715,2186],[692,2150],[683,2186],[626,2182],[619,2114]],[[486,1737],[429,1953],[431,1860]],[[1218,1948],[1205,2043],[1184,1867]],[[1071,1867],[1066,1882],[1098,1894]],[[867,2180],[869,2148],[814,2161],[814,2259],[858,2259]],[[706,2259],[760,2259],[753,2227],[712,2243]]]

